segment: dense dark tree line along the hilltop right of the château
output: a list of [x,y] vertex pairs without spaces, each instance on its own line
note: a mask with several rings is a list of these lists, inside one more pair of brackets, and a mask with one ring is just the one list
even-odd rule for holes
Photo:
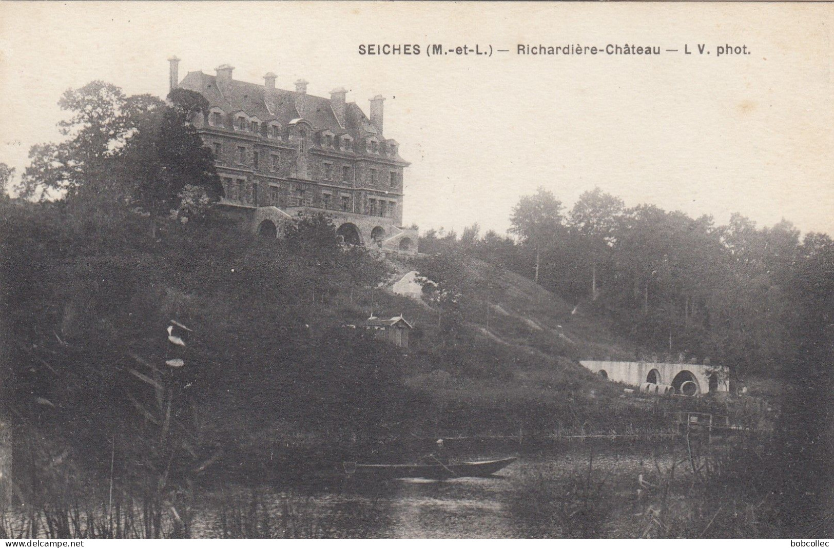
[[[795,351],[797,277],[831,288],[816,266],[831,256],[826,234],[783,220],[756,227],[733,214],[726,225],[654,205],[626,208],[600,189],[567,210],[540,189],[513,209],[510,236],[429,230],[428,254],[463,251],[536,279],[580,308],[610,314],[622,334],[677,359],[710,357],[736,375],[776,375]],[[813,274],[811,272],[813,271]],[[827,284],[827,285],[826,285]],[[822,292],[817,308],[831,305]],[[826,301],[825,299],[829,299]]]

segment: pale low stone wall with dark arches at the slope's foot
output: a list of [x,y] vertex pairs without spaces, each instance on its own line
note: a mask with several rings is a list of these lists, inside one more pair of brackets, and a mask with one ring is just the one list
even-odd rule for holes
[[640,386],[643,383],[669,385],[681,394],[687,380],[696,385],[696,395],[728,392],[730,375],[726,367],[706,364],[657,364],[646,361],[595,361],[581,359],[585,369],[608,380]]

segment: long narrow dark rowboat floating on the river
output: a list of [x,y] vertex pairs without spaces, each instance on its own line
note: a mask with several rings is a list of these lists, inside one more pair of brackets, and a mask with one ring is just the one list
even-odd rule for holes
[[498,460],[476,460],[459,464],[423,464],[423,465],[360,465],[355,462],[344,462],[344,472],[364,478],[428,478],[432,480],[448,480],[450,478],[475,477],[483,478],[495,474],[515,462],[517,457]]

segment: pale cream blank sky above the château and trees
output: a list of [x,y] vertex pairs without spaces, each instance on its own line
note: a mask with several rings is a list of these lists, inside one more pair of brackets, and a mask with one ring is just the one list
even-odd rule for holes
[[[359,54],[385,43],[421,53]],[[528,43],[661,55],[516,53]],[[728,45],[749,53],[719,57]],[[62,138],[68,88],[164,97],[172,55],[180,78],[229,63],[278,88],[344,86],[366,113],[381,93],[385,137],[411,162],[403,221],[421,229],[504,233],[539,187],[570,208],[599,186],[627,206],[834,234],[831,3],[2,3],[0,162],[19,173]]]

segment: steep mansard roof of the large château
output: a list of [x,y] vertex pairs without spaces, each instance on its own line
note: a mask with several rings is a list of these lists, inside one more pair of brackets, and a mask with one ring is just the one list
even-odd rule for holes
[[[264,123],[277,121],[282,126],[287,126],[294,120],[303,118],[312,124],[315,130],[329,129],[336,135],[348,133],[354,140],[359,141],[372,135],[384,140],[362,109],[353,102],[345,104],[343,127],[330,106],[329,98],[276,88],[273,100],[268,105],[263,85],[229,80],[220,82],[218,87],[217,77],[202,71],[186,74],[179,87],[201,93],[208,100],[209,108],[219,107],[227,113],[242,110]],[[399,154],[395,159],[404,162]]]

